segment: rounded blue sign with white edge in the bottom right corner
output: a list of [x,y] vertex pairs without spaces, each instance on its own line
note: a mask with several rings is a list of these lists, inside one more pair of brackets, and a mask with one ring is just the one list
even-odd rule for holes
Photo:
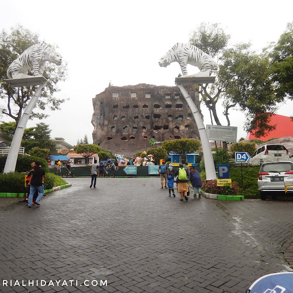
[[257,279],[246,293],[293,293],[293,272],[277,272]]

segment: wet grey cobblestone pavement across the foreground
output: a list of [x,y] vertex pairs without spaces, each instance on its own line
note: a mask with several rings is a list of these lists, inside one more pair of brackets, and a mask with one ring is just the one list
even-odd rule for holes
[[0,292],[244,293],[292,271],[293,201],[180,202],[159,178],[68,181],[41,207],[0,208]]

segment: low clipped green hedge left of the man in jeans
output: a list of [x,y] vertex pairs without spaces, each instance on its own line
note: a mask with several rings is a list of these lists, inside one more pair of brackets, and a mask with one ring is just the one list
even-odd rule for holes
[[19,172],[0,173],[0,192],[22,193],[24,191],[24,174]]

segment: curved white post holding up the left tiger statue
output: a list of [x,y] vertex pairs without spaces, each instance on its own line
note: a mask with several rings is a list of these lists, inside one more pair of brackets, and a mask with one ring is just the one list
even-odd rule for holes
[[40,84],[38,89],[35,91],[34,95],[32,96],[31,100],[29,101],[28,105],[25,107],[24,112],[21,116],[19,124],[15,130],[12,143],[9,149],[9,153],[7,156],[7,160],[4,167],[4,173],[14,172],[16,167],[16,161],[18,157],[18,152],[21,146],[21,140],[24,133],[25,126],[28,122],[28,119],[33,111],[33,108],[38,102],[38,99],[41,96],[42,90],[44,89],[45,85],[48,81]]

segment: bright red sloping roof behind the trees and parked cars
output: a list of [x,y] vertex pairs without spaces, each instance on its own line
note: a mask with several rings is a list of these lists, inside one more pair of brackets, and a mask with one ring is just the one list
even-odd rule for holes
[[282,115],[272,115],[269,125],[275,125],[276,129],[269,132],[267,136],[255,137],[250,132],[246,136],[246,140],[259,139],[267,141],[268,139],[275,137],[293,136],[293,121],[290,117]]

